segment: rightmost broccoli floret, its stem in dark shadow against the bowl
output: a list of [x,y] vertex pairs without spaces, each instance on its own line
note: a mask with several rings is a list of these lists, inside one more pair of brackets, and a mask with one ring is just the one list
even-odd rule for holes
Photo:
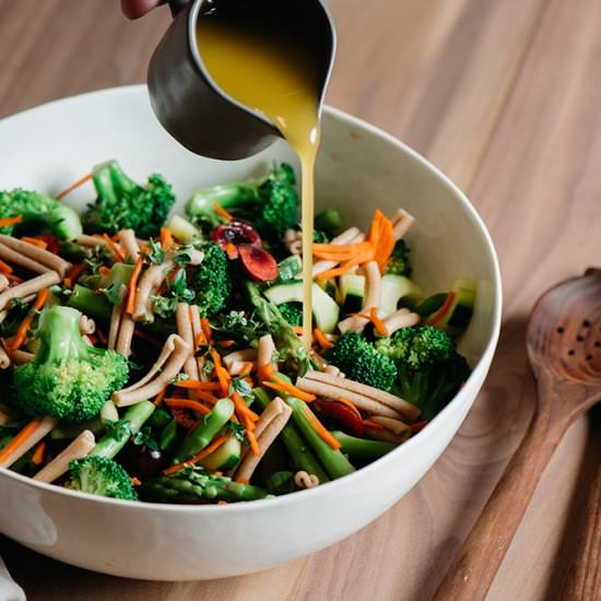
[[432,420],[470,375],[452,338],[432,326],[398,330],[378,340],[376,349],[394,361],[396,391],[417,405],[424,420]]

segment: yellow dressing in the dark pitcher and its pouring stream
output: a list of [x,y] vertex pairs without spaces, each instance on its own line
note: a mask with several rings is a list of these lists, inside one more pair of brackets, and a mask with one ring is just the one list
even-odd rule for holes
[[317,61],[306,44],[264,15],[220,12],[197,26],[201,59],[228,96],[271,121],[300,160],[303,227],[303,340],[311,345],[314,170],[319,145]]

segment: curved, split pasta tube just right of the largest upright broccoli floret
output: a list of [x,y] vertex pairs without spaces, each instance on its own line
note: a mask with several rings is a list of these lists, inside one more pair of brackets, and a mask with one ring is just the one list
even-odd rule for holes
[[177,334],[172,334],[165,342],[165,346],[168,346],[170,351],[161,353],[160,360],[163,357],[161,365],[157,365],[157,360],[144,378],[129,388],[113,393],[113,402],[117,406],[129,406],[155,397],[180,373],[192,349]]

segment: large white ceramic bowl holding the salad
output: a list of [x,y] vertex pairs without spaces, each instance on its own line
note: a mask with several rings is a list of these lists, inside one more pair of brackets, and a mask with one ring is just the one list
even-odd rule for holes
[[[193,110],[193,107],[190,107]],[[279,142],[237,163],[190,154],[163,131],[143,86],[94,92],[0,122],[0,188],[56,193],[107,158],[135,178],[153,172],[180,200],[195,187],[296,163]],[[82,208],[91,191],[69,202]],[[404,207],[414,274],[427,293],[458,276],[478,280],[461,351],[474,366],[452,402],[420,434],[352,475],[310,491],[228,506],[150,505],[39,484],[0,469],[0,531],[44,555],[84,568],[156,580],[192,580],[260,570],[318,551],[376,519],[426,473],[472,405],[488,369],[500,320],[500,281],[486,228],[463,193],[414,151],[328,108],[317,168],[318,208],[337,207],[366,226],[374,208]]]

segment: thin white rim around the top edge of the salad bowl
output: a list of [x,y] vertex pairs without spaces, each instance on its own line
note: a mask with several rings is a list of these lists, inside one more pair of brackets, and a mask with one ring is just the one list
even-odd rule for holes
[[[113,97],[119,97],[119,96],[122,96],[122,97],[143,96],[148,101],[148,89],[145,84],[122,85],[122,86],[94,90],[91,92],[85,92],[83,94],[74,94],[71,96],[57,98],[55,101],[50,101],[48,103],[44,103],[34,107],[24,109],[22,111],[15,113],[13,115],[9,115],[0,119],[0,132],[4,127],[12,125],[15,120],[25,118],[38,110],[51,109],[55,107],[55,105],[78,103],[83,99],[91,99],[91,98],[94,98],[97,102],[102,102],[105,98],[113,98]],[[502,288],[498,258],[496,255],[496,250],[495,250],[491,234],[488,233],[488,229],[486,228],[486,225],[484,224],[482,217],[478,214],[475,208],[472,205],[472,203],[468,199],[467,195],[463,191],[461,191],[459,187],[447,175],[445,175],[438,167],[436,167],[429,161],[423,157],[419,152],[416,152],[415,150],[413,150],[411,146],[400,141],[399,139],[394,138],[392,134],[384,131],[382,129],[367,121],[364,121],[358,117],[354,117],[339,108],[334,108],[332,106],[326,105],[323,113],[327,117],[333,117],[339,121],[346,122],[351,126],[356,127],[362,131],[366,131],[369,134],[373,134],[375,137],[382,139],[387,143],[396,146],[397,149],[402,151],[404,154],[409,155],[413,161],[416,161],[417,163],[420,163],[422,167],[432,172],[438,179],[443,181],[443,184],[445,184],[451,190],[456,199],[462,204],[463,209],[467,211],[468,215],[472,219],[476,228],[481,232],[481,234],[484,237],[486,250],[488,252],[488,259],[493,268],[492,283],[494,286],[494,295],[493,295],[494,306],[492,311],[492,332],[486,343],[486,346],[483,353],[481,354],[476,365],[473,367],[472,373],[470,374],[470,377],[468,378],[466,385],[449,401],[447,406],[440,413],[438,413],[438,415],[436,415],[434,420],[432,420],[432,422],[427,425],[427,427],[424,428],[423,431],[424,433],[429,432],[429,434],[432,435],[435,429],[440,427],[440,424],[444,421],[444,415],[446,415],[449,412],[450,405],[456,405],[461,401],[467,401],[467,397],[469,394],[469,388],[470,388],[468,385],[471,381],[475,381],[478,379],[482,379],[482,380],[484,379],[492,361],[492,355],[494,354],[494,351],[498,341],[498,335],[500,330],[500,318],[502,318],[503,288]],[[49,493],[55,496],[74,498],[83,503],[106,504],[108,506],[121,506],[126,509],[135,508],[140,511],[152,511],[152,512],[156,512],[156,511],[166,511],[169,514],[220,512],[220,515],[221,514],[228,515],[232,512],[240,512],[240,511],[241,512],[261,511],[266,507],[273,507],[273,506],[284,508],[286,506],[294,505],[299,502],[305,502],[305,500],[308,502],[311,498],[314,502],[318,502],[320,497],[322,497],[323,495],[329,495],[330,492],[333,493],[337,488],[340,488],[345,485],[355,485],[358,479],[362,478],[361,474],[367,475],[368,473],[374,472],[376,469],[378,470],[381,469],[386,463],[390,463],[392,461],[398,460],[401,457],[401,455],[411,452],[411,449],[415,445],[420,444],[423,436],[424,434],[420,432],[415,436],[412,436],[409,440],[406,440],[402,445],[399,445],[399,447],[396,448],[394,450],[390,451],[384,457],[380,457],[379,459],[369,463],[368,466],[365,466],[364,468],[361,468],[344,478],[333,480],[331,482],[326,482],[325,484],[321,484],[314,488],[297,491],[288,495],[273,496],[273,497],[268,497],[264,499],[252,500],[252,502],[229,503],[227,505],[169,505],[166,503],[148,503],[142,500],[132,502],[132,500],[122,500],[122,499],[102,497],[98,495],[92,495],[92,494],[82,493],[79,491],[71,491],[69,488],[56,486],[54,484],[48,484],[45,482],[38,482],[32,478],[27,478],[25,475],[22,475],[15,472],[11,472],[7,468],[0,468],[0,476],[9,478],[10,480],[14,480],[32,488],[39,488],[45,493]]]

